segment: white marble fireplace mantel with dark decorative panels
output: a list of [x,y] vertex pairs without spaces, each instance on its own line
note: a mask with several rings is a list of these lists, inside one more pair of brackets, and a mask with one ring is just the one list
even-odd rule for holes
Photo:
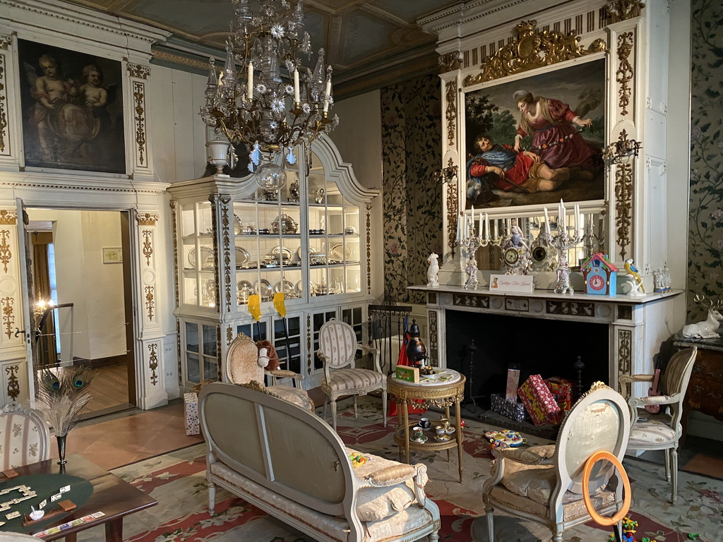
[[[607,324],[609,385],[614,388],[618,387],[620,374],[651,372],[653,356],[659,353],[662,343],[680,331],[685,317],[682,290],[633,297],[565,295],[551,290],[510,293],[488,288],[466,290],[456,285],[410,286],[409,289],[427,293],[428,347],[432,363],[447,366],[447,311]],[[630,390],[620,389],[620,392],[627,395]]]

